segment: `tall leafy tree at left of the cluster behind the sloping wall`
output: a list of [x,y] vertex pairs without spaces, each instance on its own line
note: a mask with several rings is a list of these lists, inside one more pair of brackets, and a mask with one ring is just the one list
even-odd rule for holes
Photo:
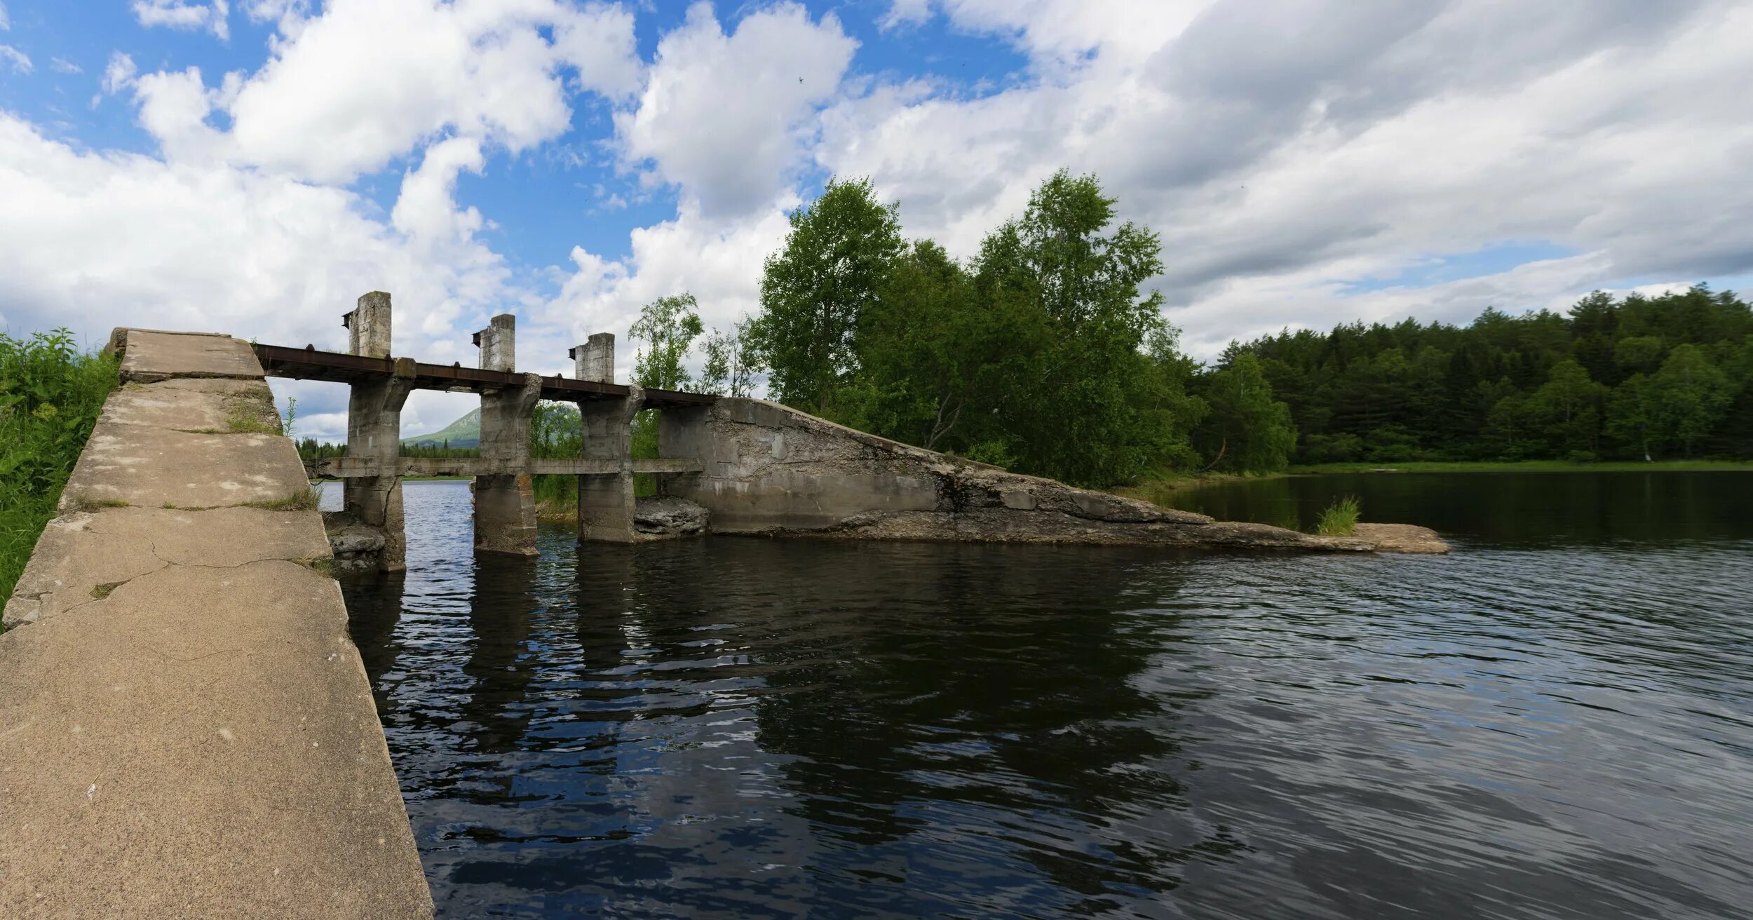
[[831,179],[822,196],[791,214],[785,247],[768,256],[761,314],[749,328],[785,405],[817,414],[857,368],[859,319],[901,254],[896,205],[869,179]]

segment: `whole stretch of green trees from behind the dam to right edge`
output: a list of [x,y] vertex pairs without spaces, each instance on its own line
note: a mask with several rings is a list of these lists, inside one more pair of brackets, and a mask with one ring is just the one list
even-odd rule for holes
[[[1062,170],[955,259],[905,238],[868,179],[829,180],[768,256],[756,315],[713,331],[692,294],[643,307],[633,380],[747,396],[764,379],[768,398],[862,431],[1092,487],[1345,461],[1753,457],[1753,312],[1734,293],[1285,329],[1204,364],[1145,287],[1160,238],[1115,205]],[[536,456],[577,452],[575,412],[543,405],[531,438]],[[650,414],[635,450],[656,456]]]

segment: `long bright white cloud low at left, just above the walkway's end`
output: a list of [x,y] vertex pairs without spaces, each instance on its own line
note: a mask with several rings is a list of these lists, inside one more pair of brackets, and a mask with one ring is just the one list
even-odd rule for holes
[[[351,191],[81,152],[7,114],[0,202],[0,324],[14,329],[68,326],[96,340],[116,324],[221,329],[345,350],[340,314],[384,289],[396,298],[400,354],[473,363],[454,329],[526,296],[479,244],[435,256]],[[345,405],[342,387],[295,393],[312,414]]]

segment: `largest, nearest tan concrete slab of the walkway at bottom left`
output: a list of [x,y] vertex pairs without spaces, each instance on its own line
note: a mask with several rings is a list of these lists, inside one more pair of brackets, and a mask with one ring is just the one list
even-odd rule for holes
[[0,916],[431,915],[326,575],[167,566],[0,659]]

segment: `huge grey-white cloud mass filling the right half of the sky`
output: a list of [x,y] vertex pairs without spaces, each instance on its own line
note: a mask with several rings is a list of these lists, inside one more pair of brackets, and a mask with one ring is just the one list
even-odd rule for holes
[[[1735,179],[1753,123],[1732,89],[1753,81],[1746,7],[1285,0],[1162,4],[1131,23],[1075,7],[945,0],[1040,79],[840,100],[817,161],[875,177],[912,233],[964,256],[1052,170],[1096,172],[1162,231],[1157,284],[1206,354],[1381,310],[1466,319],[1487,291],[1541,307],[1634,275],[1753,268],[1753,191]],[[1506,240],[1586,256],[1394,296],[1343,284]]]

